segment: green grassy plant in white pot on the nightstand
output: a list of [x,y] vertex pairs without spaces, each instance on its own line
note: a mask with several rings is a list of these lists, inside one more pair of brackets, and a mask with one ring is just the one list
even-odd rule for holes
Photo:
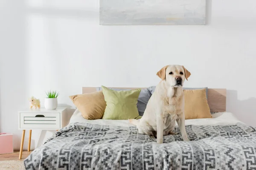
[[47,97],[44,99],[44,107],[48,110],[53,110],[58,107],[57,97],[59,93],[57,91],[48,91],[46,92]]

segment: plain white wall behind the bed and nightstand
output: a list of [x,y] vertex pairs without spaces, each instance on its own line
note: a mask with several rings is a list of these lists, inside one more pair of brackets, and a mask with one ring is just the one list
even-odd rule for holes
[[256,125],[255,45],[255,0],[207,0],[206,26],[99,26],[97,0],[2,0],[0,131],[18,149],[17,111],[29,96],[43,104],[55,89],[73,107],[68,96],[83,86],[156,85],[167,64],[192,73],[186,87],[227,88],[227,111]]

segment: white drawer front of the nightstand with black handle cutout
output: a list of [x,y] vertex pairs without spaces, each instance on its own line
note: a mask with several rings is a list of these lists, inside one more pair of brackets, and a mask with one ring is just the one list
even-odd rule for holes
[[20,113],[20,128],[60,128],[60,113]]

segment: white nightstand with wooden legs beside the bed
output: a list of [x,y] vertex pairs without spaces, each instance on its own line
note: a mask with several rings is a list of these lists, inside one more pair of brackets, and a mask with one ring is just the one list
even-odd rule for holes
[[68,124],[68,116],[66,108],[57,108],[54,110],[40,109],[26,109],[19,111],[19,130],[22,131],[22,138],[20,142],[20,156],[22,156],[23,143],[26,130],[29,130],[29,145],[30,151],[31,133],[32,130],[59,130]]

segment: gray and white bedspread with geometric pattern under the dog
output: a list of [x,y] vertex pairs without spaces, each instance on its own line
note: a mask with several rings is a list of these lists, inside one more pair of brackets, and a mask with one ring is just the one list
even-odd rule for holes
[[256,128],[244,124],[187,125],[189,142],[164,136],[163,144],[136,127],[74,123],[35,149],[26,170],[256,170]]

